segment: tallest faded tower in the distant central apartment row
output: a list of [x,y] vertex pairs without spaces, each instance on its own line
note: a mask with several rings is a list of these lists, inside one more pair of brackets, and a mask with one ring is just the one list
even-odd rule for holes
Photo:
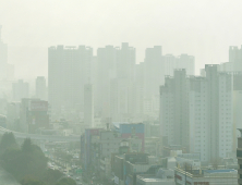
[[[129,121],[135,113],[135,48],[123,42],[117,49],[116,78],[111,81],[110,107],[114,121]],[[114,113],[114,114],[113,114]]]

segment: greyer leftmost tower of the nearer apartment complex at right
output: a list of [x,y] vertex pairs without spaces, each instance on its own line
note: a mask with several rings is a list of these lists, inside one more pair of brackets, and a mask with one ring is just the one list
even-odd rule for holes
[[174,70],[160,87],[160,124],[168,143],[189,151],[189,81],[185,70]]

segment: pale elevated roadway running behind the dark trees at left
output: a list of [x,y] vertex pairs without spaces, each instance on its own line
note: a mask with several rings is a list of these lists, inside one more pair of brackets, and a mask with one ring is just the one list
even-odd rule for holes
[[13,133],[16,138],[31,138],[33,140],[44,140],[44,141],[80,141],[81,136],[60,136],[60,135],[39,135],[39,134],[27,134],[20,133],[15,131],[10,131],[0,126],[0,134]]

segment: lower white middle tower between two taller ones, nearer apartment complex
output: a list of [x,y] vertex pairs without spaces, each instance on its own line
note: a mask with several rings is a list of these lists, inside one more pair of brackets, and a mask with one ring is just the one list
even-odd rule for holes
[[190,151],[209,160],[208,90],[205,77],[191,77],[189,90]]

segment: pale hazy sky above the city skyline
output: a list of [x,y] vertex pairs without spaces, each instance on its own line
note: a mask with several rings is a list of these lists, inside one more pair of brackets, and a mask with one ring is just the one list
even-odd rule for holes
[[205,63],[227,62],[229,46],[242,44],[241,9],[241,0],[0,0],[0,24],[9,46],[41,50],[29,61],[10,57],[17,76],[46,75],[47,57],[39,55],[52,45],[96,50],[123,41],[136,48],[137,62],[154,45],[165,54],[195,55],[198,72]]

